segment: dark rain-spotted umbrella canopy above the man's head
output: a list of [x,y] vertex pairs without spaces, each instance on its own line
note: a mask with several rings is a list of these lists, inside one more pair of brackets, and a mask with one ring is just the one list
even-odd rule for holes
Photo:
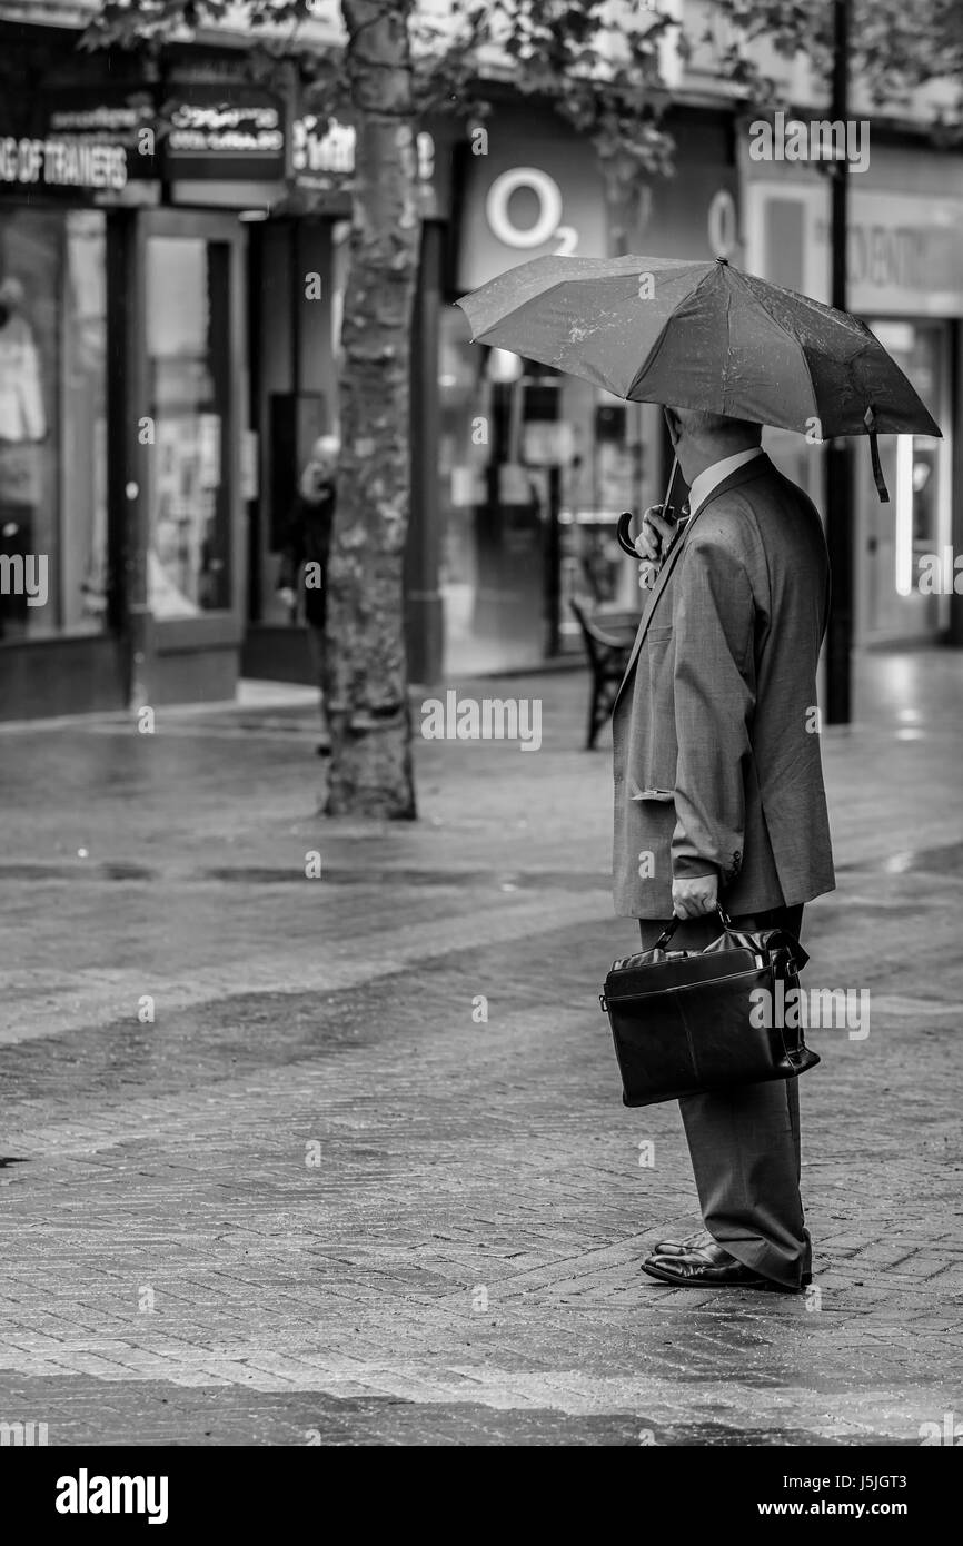
[[478,343],[629,402],[815,428],[819,439],[870,434],[878,484],[876,433],[940,434],[864,322],[725,258],[535,258],[458,305]]

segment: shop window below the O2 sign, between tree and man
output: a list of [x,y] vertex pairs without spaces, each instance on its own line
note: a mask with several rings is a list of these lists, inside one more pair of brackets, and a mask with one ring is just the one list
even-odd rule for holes
[[471,343],[456,308],[439,317],[439,405],[445,668],[581,651],[573,600],[638,606],[615,524],[645,507],[643,405]]

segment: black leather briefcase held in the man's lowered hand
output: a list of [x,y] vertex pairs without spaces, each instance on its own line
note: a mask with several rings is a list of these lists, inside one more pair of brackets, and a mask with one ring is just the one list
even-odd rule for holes
[[795,1079],[819,1062],[801,1025],[807,952],[785,929],[750,932],[717,912],[722,934],[703,951],[666,949],[672,918],[652,949],[614,962],[606,977],[598,999],[626,1105]]

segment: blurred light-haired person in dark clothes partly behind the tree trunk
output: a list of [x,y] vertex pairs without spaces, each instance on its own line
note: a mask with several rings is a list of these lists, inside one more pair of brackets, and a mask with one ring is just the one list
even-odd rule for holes
[[340,442],[334,434],[322,434],[311,448],[311,458],[298,479],[298,489],[288,518],[278,595],[294,612],[298,587],[305,598],[305,625],[311,665],[322,694],[322,725],[325,741],[318,756],[328,756],[328,720],[325,713],[325,621],[328,615],[328,555],[335,509],[335,470]]

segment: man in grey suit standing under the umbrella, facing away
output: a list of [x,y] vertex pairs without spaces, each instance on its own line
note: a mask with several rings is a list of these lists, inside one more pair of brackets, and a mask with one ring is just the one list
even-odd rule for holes
[[[835,886],[816,665],[829,558],[810,499],[776,472],[757,424],[666,408],[688,521],[646,512],[655,575],[614,708],[615,911],[651,949],[787,928]],[[685,513],[685,512],[683,512]],[[680,1102],[705,1229],[643,1263],[660,1282],[782,1288],[812,1279],[799,1197],[796,1079]]]

